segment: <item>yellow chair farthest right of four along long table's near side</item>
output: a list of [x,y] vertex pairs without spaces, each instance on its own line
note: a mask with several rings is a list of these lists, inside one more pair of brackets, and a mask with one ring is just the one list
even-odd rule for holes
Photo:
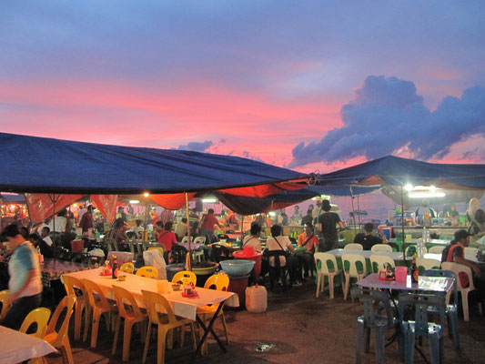
[[[194,350],[197,349],[196,343],[196,329],[194,321],[190,319],[179,319],[175,316],[174,311],[170,307],[167,298],[156,292],[149,292],[146,290],[141,291],[145,302],[147,303],[148,311],[148,329],[147,329],[147,341],[145,342],[145,349],[143,351],[142,364],[147,361],[148,345],[150,343],[150,334],[152,325],[158,326],[158,343],[157,343],[157,364],[162,364],[165,361],[165,342],[167,339],[167,332],[171,329],[183,328],[186,325],[190,326],[190,332],[192,335],[192,342]],[[165,312],[161,312],[159,309],[163,309]],[[184,330],[180,330],[180,346],[184,345]]]

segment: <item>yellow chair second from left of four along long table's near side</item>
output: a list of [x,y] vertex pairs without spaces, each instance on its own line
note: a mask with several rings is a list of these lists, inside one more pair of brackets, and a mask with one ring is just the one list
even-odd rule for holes
[[[116,312],[116,302],[108,301],[105,294],[99,286],[86,278],[81,279],[87,289],[87,298],[89,299],[90,311],[93,314],[91,324],[91,348],[96,348],[97,331],[99,329],[99,319],[102,314],[106,314],[106,328],[109,331],[111,322],[111,313]],[[87,330],[85,330],[85,337]]]

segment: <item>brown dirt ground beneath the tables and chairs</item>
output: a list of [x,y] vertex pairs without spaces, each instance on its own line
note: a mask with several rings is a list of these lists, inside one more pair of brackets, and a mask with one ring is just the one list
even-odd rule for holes
[[[268,293],[268,310],[252,314],[246,310],[227,308],[227,330],[229,346],[227,353],[218,348],[217,342],[208,340],[208,355],[198,357],[197,363],[354,363],[357,318],[363,312],[358,301],[344,301],[341,288],[336,288],[336,298],[329,299],[328,291],[315,298],[315,283],[308,280],[302,287],[288,288],[286,293]],[[457,353],[448,335],[445,338],[445,363],[485,363],[485,316],[480,317],[477,306],[470,308],[470,322],[459,319],[461,350]],[[74,319],[71,322],[73,325]],[[103,323],[102,323],[103,324]],[[224,337],[220,321],[216,322],[219,337]],[[103,329],[101,329],[103,328]],[[73,328],[70,338],[74,337]],[[120,336],[122,336],[121,330]],[[392,334],[388,332],[388,337]],[[371,338],[373,332],[371,332]],[[186,336],[184,348],[167,350],[167,363],[187,363],[194,353]],[[100,326],[96,349],[89,349],[87,343],[71,339],[76,363],[104,364],[121,362],[122,339],[118,342],[115,356],[111,356],[113,334],[106,333],[106,326]],[[420,348],[429,360],[428,340]],[[391,343],[385,350],[386,363],[399,363],[398,342]],[[143,346],[135,330],[131,341],[130,363],[139,363]],[[150,342],[147,363],[157,360],[156,340]],[[48,357],[49,363],[62,363],[56,356]],[[362,363],[374,363],[373,339],[369,354],[362,354]],[[415,351],[415,363],[426,363]]]

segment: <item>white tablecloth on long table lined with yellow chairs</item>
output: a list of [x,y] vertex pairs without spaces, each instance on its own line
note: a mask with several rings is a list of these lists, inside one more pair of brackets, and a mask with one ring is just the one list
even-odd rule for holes
[[[136,303],[141,308],[146,308],[145,301],[142,296],[142,289],[157,292],[158,283],[160,280],[152,278],[138,277],[133,274],[126,274],[126,280],[120,282],[111,277],[102,277],[99,275],[101,268],[86,270],[83,272],[69,273],[66,276],[72,276],[76,278],[86,278],[92,280],[99,285],[106,295],[106,298],[116,299],[113,292],[113,286],[119,286],[126,288],[135,297]],[[170,302],[174,313],[185,319],[196,319],[197,307],[211,305],[226,301],[226,305],[230,307],[239,306],[239,298],[237,294],[233,292],[218,291],[215,289],[205,289],[197,287],[197,298],[184,298],[182,297],[182,291],[174,291],[163,296]]]

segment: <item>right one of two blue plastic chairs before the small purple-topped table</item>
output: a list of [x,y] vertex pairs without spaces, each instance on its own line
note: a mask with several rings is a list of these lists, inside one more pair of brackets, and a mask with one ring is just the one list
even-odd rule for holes
[[[404,314],[408,308],[414,308],[414,320],[405,321]],[[428,308],[437,309],[440,325],[428,320]],[[431,364],[444,362],[443,321],[445,319],[445,298],[435,295],[401,294],[399,295],[399,321],[401,335],[399,337],[399,355],[403,359],[403,349],[407,364],[414,359],[414,343],[416,336],[429,338],[429,356]]]

